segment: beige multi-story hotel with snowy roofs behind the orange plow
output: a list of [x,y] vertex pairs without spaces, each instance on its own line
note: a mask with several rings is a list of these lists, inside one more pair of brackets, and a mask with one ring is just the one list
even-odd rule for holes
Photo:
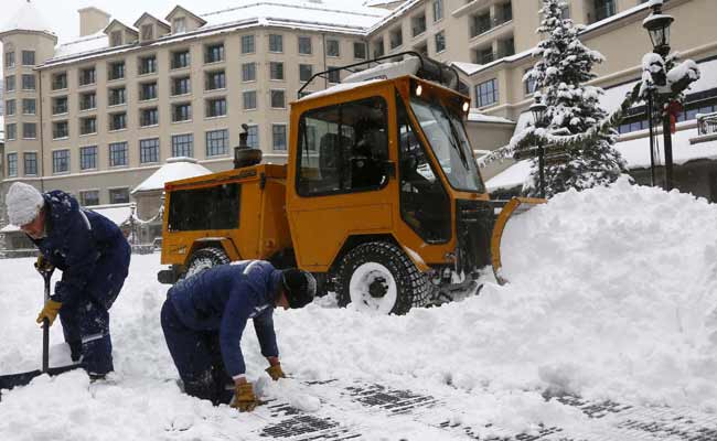
[[[541,40],[541,0],[373,0],[347,10],[325,0],[237,4],[202,14],[168,4],[165,17],[138,11],[133,23],[85,8],[82,36],[57,45],[26,3],[0,32],[0,191],[22,180],[69,191],[85,205],[126,203],[170,157],[231,168],[242,123],[266,160],[283,162],[288,104],[312,74],[408,50],[459,68],[474,107],[468,119],[474,148],[505,146],[525,123],[534,90],[523,76]],[[713,68],[717,3],[668,0],[664,11],[675,18],[673,51]],[[644,0],[567,1],[565,15],[587,25],[585,44],[606,57],[593,83],[608,89],[608,110],[639,79],[642,55],[652,51],[642,28],[649,13]],[[717,79],[706,77],[688,96],[681,128],[695,127],[696,112],[717,110]],[[309,90],[340,80],[313,82]],[[641,115],[621,127],[625,139],[644,136]]]

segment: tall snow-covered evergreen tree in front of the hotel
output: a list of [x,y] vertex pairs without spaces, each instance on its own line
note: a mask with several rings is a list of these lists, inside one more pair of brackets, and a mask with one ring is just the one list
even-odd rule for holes
[[[599,107],[603,90],[586,85],[596,77],[592,66],[603,57],[580,42],[578,34],[582,26],[563,18],[564,7],[563,0],[543,0],[543,22],[537,31],[545,40],[534,52],[539,61],[526,74],[526,78],[535,80],[536,90],[548,107],[545,129],[554,136],[584,133],[606,117],[606,111]],[[610,130],[589,144],[568,149],[567,162],[548,164],[545,168],[546,196],[616,181],[625,170],[620,152],[613,148],[617,136],[616,130]],[[545,147],[549,154],[550,147]],[[528,195],[539,192],[537,159],[533,162],[531,180],[524,187]]]

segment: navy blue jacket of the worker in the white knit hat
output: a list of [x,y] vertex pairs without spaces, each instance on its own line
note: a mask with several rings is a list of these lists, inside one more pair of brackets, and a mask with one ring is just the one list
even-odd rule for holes
[[[113,275],[127,277],[131,250],[114,222],[81,208],[77,200],[60,190],[45,193],[43,197],[47,209],[46,236],[33,241],[45,258],[62,270],[62,280],[55,284],[52,300],[77,301],[88,282],[108,277],[103,273],[106,268],[113,268]],[[105,270],[97,271],[100,259],[105,259],[101,266]]]

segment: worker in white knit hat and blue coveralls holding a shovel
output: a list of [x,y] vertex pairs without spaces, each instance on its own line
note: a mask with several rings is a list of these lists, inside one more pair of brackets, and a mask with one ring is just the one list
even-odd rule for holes
[[81,208],[77,200],[55,190],[40,193],[15,182],[6,197],[8,217],[40,249],[35,268],[62,270],[54,293],[38,315],[53,324],[57,314],[73,362],[92,380],[114,370],[109,309],[129,270],[131,248],[110,219]]

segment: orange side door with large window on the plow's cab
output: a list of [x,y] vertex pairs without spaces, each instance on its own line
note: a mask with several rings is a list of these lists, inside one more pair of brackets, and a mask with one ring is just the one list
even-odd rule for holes
[[[392,92],[392,94],[388,94]],[[396,158],[390,87],[330,95],[292,115],[287,211],[299,266],[324,272],[346,238],[389,233]],[[293,182],[291,182],[293,181]]]

